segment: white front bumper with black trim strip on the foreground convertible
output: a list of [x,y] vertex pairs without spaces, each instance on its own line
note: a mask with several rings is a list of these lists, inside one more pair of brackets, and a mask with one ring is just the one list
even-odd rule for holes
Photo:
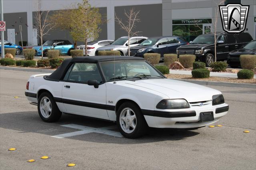
[[[211,125],[217,122],[221,117],[228,113],[228,105],[221,104],[209,107],[191,107],[182,109],[181,111],[148,111],[142,110],[146,122],[149,127],[155,128],[199,128]],[[214,120],[202,122],[200,113],[210,112],[214,113]],[[159,114],[160,113],[160,114]]]

